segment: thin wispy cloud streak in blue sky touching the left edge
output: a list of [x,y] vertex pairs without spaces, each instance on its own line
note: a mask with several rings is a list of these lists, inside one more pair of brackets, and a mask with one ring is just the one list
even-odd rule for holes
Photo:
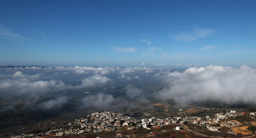
[[11,41],[20,41],[20,40],[31,41],[27,37],[18,35],[17,33],[10,31],[3,24],[0,24],[0,38],[6,39],[6,40],[11,40]]

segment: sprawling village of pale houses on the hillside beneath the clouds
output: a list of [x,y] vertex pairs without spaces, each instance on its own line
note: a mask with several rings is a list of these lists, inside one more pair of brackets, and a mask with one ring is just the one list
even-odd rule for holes
[[[180,109],[182,111],[182,109]],[[132,115],[132,114],[130,114]],[[248,122],[242,122],[241,120],[234,120],[234,118],[242,118],[245,115],[249,117],[252,121],[255,120],[255,112],[237,112],[234,110],[226,110],[226,113],[216,113],[212,115],[207,115],[203,118],[193,117],[193,116],[176,116],[176,117],[167,117],[167,118],[155,118],[155,117],[146,117],[143,119],[129,117],[121,113],[114,113],[111,111],[102,111],[97,113],[92,113],[87,115],[85,118],[76,119],[74,122],[69,122],[69,129],[55,129],[50,130],[45,133],[39,134],[21,134],[21,135],[12,135],[10,138],[42,138],[47,136],[68,136],[68,135],[79,135],[85,133],[102,133],[114,131],[116,137],[132,137],[131,134],[122,133],[124,130],[136,130],[144,129],[144,131],[154,130],[156,127],[163,127],[166,125],[176,124],[176,127],[173,130],[188,130],[198,135],[204,135],[198,133],[191,129],[191,126],[196,126],[202,130],[209,130],[212,132],[225,131],[225,133],[230,134],[240,134],[242,135],[253,135],[255,134],[256,123],[248,124]],[[150,116],[149,113],[146,113],[146,116]],[[242,131],[238,133],[236,127],[248,125],[251,129]],[[223,130],[226,128],[226,130]],[[164,133],[165,131],[163,131]],[[150,133],[155,134],[155,131],[150,131]]]

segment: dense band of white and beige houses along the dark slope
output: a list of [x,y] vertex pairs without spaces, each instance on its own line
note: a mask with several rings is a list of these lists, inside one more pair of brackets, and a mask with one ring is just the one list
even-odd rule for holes
[[[11,138],[40,138],[44,135],[55,135],[55,136],[62,136],[62,135],[74,135],[74,134],[83,134],[83,133],[100,133],[106,131],[116,131],[116,137],[131,137],[131,135],[122,135],[121,130],[118,128],[127,126],[128,130],[144,128],[150,130],[155,126],[163,126],[169,124],[184,124],[184,123],[191,123],[199,126],[203,126],[210,131],[219,132],[220,127],[235,127],[242,125],[242,123],[236,120],[229,120],[225,122],[225,119],[228,117],[234,117],[237,115],[245,114],[246,112],[237,113],[234,110],[227,110],[224,113],[217,113],[211,116],[207,115],[204,118],[201,117],[167,117],[165,119],[161,118],[143,118],[143,119],[136,119],[132,117],[128,117],[121,113],[113,113],[110,111],[103,111],[92,113],[91,115],[87,115],[86,118],[76,119],[74,122],[69,122],[70,128],[68,130],[64,129],[56,129],[51,130],[46,133],[40,134],[22,134],[22,135],[12,135]],[[250,115],[255,115],[255,113],[250,113]],[[75,127],[79,126],[79,127]],[[218,127],[216,127],[218,126]],[[176,128],[177,129],[177,128]],[[179,130],[178,128],[177,130]],[[232,132],[230,132],[232,133]]]

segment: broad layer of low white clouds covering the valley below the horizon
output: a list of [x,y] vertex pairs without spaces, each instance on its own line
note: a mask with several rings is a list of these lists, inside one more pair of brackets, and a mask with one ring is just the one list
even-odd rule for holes
[[[159,64],[165,65],[165,64]],[[188,65],[190,66],[190,65]],[[65,93],[97,90],[82,99],[82,107],[103,109],[120,101],[112,94],[99,93],[105,90],[125,90],[127,100],[149,103],[143,83],[157,83],[165,86],[152,93],[158,100],[174,100],[177,103],[220,102],[225,104],[246,103],[256,105],[256,69],[249,66],[233,68],[210,65],[191,67],[186,70],[171,68],[120,68],[120,67],[14,67],[0,68],[0,97],[20,100],[34,97],[37,103],[42,94],[63,93],[36,105],[42,109],[58,108],[67,103]],[[119,82],[125,85],[121,86]],[[136,88],[136,86],[142,88]],[[87,92],[87,91],[85,91]],[[11,110],[15,105],[7,105],[1,111]]]

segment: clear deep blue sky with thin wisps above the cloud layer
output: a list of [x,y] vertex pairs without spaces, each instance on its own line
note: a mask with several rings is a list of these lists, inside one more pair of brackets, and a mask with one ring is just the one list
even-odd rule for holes
[[256,66],[253,0],[0,3],[0,65]]

